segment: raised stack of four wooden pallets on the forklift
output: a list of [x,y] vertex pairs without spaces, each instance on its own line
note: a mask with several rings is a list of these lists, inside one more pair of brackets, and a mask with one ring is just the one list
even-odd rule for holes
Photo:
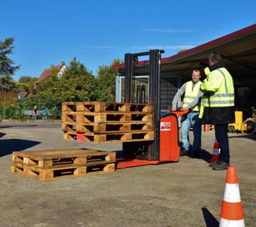
[[116,102],[63,102],[65,140],[129,142],[154,140],[152,106]]

